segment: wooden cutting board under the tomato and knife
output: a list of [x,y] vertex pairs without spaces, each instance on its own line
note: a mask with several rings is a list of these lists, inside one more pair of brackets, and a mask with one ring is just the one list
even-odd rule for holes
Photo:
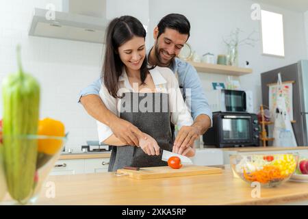
[[185,177],[221,173],[222,169],[208,166],[183,165],[180,169],[169,166],[140,168],[140,170],[118,169],[118,174],[129,175],[133,179],[156,179],[168,177]]

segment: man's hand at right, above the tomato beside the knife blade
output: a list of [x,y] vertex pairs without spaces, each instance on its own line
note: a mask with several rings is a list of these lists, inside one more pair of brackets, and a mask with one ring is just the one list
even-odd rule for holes
[[194,146],[194,140],[199,138],[201,135],[200,130],[197,127],[193,126],[183,126],[179,130],[177,134],[177,138],[175,138],[175,143],[173,144],[172,152],[179,153],[187,153],[187,148],[190,146]]

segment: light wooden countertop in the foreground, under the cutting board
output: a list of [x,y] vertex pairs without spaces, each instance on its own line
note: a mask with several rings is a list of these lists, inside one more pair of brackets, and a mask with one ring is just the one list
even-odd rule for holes
[[55,198],[45,196],[38,205],[274,205],[308,200],[308,183],[288,181],[277,188],[261,188],[261,198],[252,198],[253,188],[235,179],[231,170],[222,174],[131,179],[113,172],[89,175],[50,176]]

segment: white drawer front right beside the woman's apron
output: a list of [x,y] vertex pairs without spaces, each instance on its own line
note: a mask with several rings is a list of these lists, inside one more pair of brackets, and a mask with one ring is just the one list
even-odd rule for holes
[[110,158],[101,159],[85,159],[85,172],[96,173],[96,172],[108,172]]

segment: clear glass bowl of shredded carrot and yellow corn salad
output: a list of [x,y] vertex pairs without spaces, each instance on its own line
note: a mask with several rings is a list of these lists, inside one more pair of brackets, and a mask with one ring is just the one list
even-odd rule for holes
[[297,163],[297,154],[230,156],[235,177],[247,183],[259,182],[266,187],[274,187],[290,179],[296,171]]

